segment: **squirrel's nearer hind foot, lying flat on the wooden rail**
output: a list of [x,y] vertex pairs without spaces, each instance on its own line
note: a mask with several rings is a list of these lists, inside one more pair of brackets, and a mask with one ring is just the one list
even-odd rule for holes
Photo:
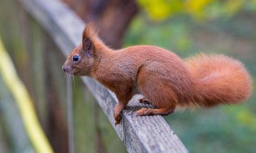
[[145,115],[169,115],[173,113],[175,110],[175,105],[171,108],[141,108],[137,111],[137,115],[145,116]]

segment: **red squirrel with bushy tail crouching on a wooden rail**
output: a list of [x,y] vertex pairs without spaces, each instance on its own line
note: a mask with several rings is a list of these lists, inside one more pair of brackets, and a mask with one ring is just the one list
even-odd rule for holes
[[101,41],[93,23],[87,23],[82,44],[62,66],[74,76],[89,76],[117,96],[114,120],[136,93],[140,102],[155,105],[137,115],[169,115],[176,107],[213,107],[238,104],[251,95],[252,80],[242,62],[221,54],[198,54],[185,61],[158,46],[137,45],[113,50]]

